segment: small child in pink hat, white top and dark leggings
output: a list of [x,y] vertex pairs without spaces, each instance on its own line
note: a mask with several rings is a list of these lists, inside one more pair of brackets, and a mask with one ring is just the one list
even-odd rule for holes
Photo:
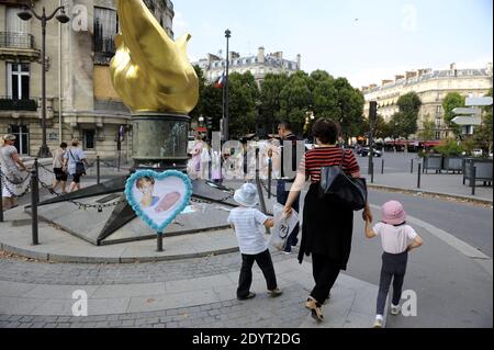
[[403,280],[406,272],[408,251],[422,246],[422,238],[412,226],[406,224],[406,212],[402,203],[390,201],[381,207],[381,222],[370,228],[370,219],[366,221],[366,237],[381,236],[382,268],[379,282],[378,307],[374,328],[383,324],[384,306],[388,298],[391,281],[393,280],[393,300],[391,314],[400,314],[400,300],[402,296]]

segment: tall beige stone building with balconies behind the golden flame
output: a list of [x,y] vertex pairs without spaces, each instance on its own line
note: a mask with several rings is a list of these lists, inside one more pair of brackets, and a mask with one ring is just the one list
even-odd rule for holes
[[[31,1],[0,0],[0,134],[18,135],[22,155],[35,156],[41,128],[41,23],[16,16]],[[55,19],[46,29],[47,144],[81,140],[89,157],[115,157],[119,129],[125,131],[122,151],[132,151],[131,114],[113,89],[109,63],[119,30],[116,0],[37,0],[36,13],[50,13],[59,3],[70,22]],[[145,0],[173,37],[170,0]]]

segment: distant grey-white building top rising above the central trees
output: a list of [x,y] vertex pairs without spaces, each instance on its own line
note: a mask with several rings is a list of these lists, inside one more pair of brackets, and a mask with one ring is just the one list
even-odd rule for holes
[[[204,72],[204,78],[209,82],[216,81],[226,70],[226,59],[216,55],[209,54],[206,58],[200,59],[198,65]],[[288,74],[292,75],[301,69],[301,55],[295,60],[283,58],[282,52],[266,54],[263,47],[259,47],[256,56],[240,57],[238,53],[229,53],[228,72],[245,74],[250,71],[260,83],[268,74]]]

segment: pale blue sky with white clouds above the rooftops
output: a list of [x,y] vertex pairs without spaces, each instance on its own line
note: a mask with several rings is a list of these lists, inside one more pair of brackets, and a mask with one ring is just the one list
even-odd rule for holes
[[172,0],[176,38],[192,35],[191,61],[229,49],[283,52],[360,88],[419,68],[493,61],[492,0]]

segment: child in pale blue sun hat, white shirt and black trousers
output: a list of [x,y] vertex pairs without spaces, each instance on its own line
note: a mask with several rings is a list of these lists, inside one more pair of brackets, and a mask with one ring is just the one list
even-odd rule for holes
[[256,293],[250,292],[255,261],[262,270],[269,294],[273,297],[279,296],[282,291],[278,289],[268,242],[263,238],[263,227],[273,227],[274,221],[255,208],[258,195],[254,184],[245,183],[235,191],[234,200],[240,205],[234,208],[228,216],[228,224],[235,230],[242,252],[237,298],[247,300],[256,296]]

